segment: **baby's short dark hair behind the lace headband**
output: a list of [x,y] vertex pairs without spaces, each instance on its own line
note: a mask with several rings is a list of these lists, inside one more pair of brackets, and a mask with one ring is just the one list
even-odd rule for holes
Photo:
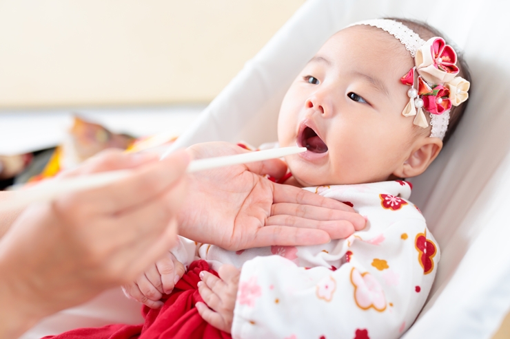
[[[451,45],[453,47],[453,50],[455,50],[457,54],[457,67],[459,69],[459,76],[462,76],[462,78],[465,78],[469,83],[471,83],[471,74],[469,73],[469,67],[467,67],[467,63],[464,60],[464,56],[462,53],[458,50],[458,48],[455,45],[452,45],[448,39],[445,37],[445,34],[442,34],[436,28],[431,27],[427,23],[423,21],[417,21],[417,20],[409,20],[409,19],[401,19],[401,18],[385,18],[390,19],[394,21],[398,21],[400,23],[403,23],[407,27],[411,28],[411,30],[414,30],[418,35],[420,35],[420,38],[427,41],[433,36],[440,36],[442,39],[445,39],[446,43],[448,45]],[[452,106],[450,111],[450,121],[448,124],[448,129],[445,134],[445,138],[442,140],[443,146],[446,145],[449,138],[453,134],[453,132],[456,130],[458,123],[460,122],[460,119],[464,115],[464,111],[466,110],[467,104],[469,100],[466,100],[465,102],[462,102],[462,104],[458,105],[457,107]],[[427,129],[428,131],[428,129]],[[430,133],[430,132],[428,132]]]

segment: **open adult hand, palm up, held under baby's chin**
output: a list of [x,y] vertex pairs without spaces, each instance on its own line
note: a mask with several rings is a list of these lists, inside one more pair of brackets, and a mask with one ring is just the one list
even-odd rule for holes
[[[194,159],[247,152],[227,142],[191,146]],[[179,234],[227,250],[268,245],[314,245],[349,237],[365,219],[339,201],[261,177],[282,177],[278,159],[190,175]]]

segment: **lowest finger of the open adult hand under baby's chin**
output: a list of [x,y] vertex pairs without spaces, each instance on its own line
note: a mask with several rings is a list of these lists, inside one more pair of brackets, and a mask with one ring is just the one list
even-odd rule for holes
[[320,245],[329,243],[331,238],[323,230],[289,226],[264,226],[258,228],[251,239],[246,239],[241,248],[256,248],[271,245]]

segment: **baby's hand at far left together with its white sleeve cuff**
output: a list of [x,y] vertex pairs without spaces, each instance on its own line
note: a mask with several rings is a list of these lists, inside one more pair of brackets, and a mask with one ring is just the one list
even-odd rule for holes
[[185,273],[195,256],[196,243],[179,237],[177,244],[163,258],[152,264],[135,281],[123,285],[122,289],[128,298],[158,309],[163,306],[160,300],[163,294],[170,294],[174,285]]

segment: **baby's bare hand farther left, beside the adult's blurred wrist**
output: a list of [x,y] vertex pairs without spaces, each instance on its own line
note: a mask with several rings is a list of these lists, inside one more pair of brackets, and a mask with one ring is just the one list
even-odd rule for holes
[[185,272],[184,265],[167,252],[163,259],[152,264],[136,281],[123,285],[122,290],[128,298],[153,309],[163,306],[160,300],[163,294],[169,294]]

